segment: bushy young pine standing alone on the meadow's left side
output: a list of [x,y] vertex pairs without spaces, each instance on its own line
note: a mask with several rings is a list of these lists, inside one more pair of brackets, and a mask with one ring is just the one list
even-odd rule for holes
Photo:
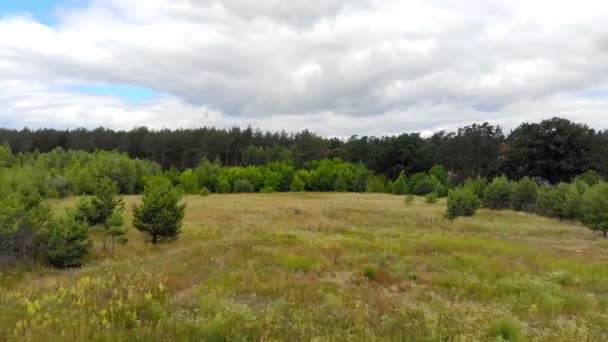
[[163,176],[148,179],[142,203],[133,206],[133,226],[150,235],[152,243],[176,239],[184,219],[186,205],[182,193]]

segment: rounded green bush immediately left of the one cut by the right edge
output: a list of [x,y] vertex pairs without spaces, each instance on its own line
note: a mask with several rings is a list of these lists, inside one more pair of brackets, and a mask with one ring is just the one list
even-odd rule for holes
[[560,220],[582,217],[582,195],[574,184],[542,187],[538,193],[538,206],[545,215]]

